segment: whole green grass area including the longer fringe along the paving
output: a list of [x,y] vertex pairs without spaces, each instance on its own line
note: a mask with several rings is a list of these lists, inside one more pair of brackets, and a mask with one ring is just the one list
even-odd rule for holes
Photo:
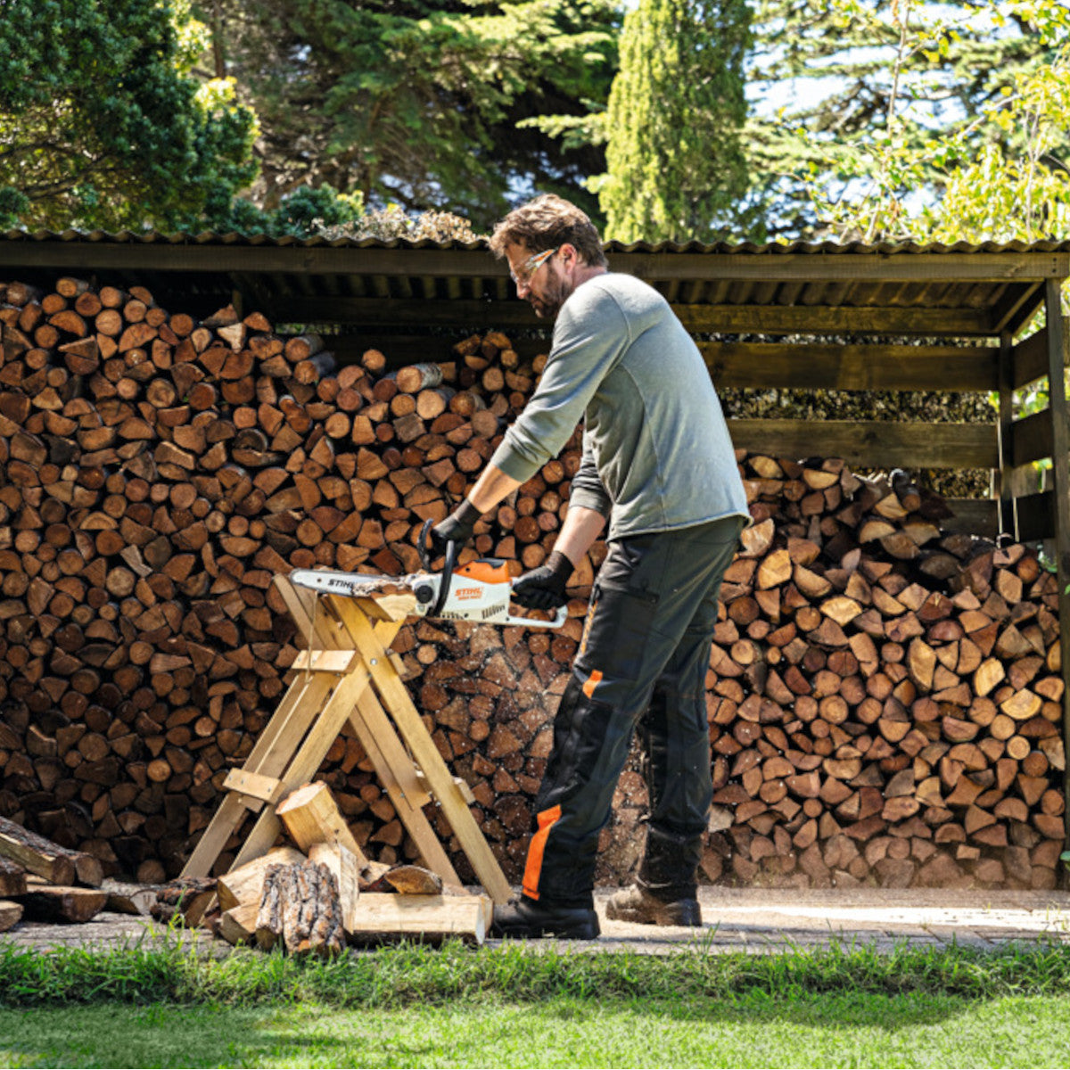
[[11,1067],[1068,1066],[1070,949],[0,946]]

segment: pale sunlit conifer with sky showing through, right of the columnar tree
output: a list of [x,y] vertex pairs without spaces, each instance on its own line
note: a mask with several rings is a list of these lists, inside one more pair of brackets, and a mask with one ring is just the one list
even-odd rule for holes
[[[770,230],[812,233],[813,184],[856,196],[861,157],[908,152],[950,173],[993,135],[1008,156],[1026,152],[1027,131],[982,117],[1011,106],[1068,25],[1065,0],[756,0],[747,146]],[[1055,154],[1068,153],[1070,134]],[[901,186],[931,200],[938,173]]]

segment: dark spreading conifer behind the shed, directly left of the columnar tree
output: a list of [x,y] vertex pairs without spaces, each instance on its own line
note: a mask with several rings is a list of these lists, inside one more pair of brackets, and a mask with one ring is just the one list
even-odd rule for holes
[[595,207],[583,183],[602,149],[540,117],[605,106],[617,0],[205,0],[210,14],[260,120],[261,207],[324,183],[478,226],[534,189]]

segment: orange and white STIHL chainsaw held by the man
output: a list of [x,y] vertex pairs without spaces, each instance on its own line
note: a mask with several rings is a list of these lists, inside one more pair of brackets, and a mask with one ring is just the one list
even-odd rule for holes
[[[395,615],[427,616],[443,621],[476,621],[480,624],[525,625],[560,628],[568,617],[562,606],[552,621],[514,616],[509,612],[513,580],[508,565],[499,557],[478,557],[457,567],[457,544],[447,542],[441,572],[430,571],[426,521],[419,533],[419,561],[426,571],[408,576],[370,576],[295,568],[290,582],[319,594],[346,598],[374,598]],[[388,603],[388,605],[387,605]]]

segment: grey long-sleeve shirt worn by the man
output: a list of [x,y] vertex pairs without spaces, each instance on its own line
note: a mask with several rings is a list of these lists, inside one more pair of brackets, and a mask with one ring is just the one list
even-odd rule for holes
[[702,355],[668,302],[631,275],[596,275],[569,295],[538,388],[491,463],[525,483],[581,417],[569,501],[609,516],[609,538],[749,520]]

